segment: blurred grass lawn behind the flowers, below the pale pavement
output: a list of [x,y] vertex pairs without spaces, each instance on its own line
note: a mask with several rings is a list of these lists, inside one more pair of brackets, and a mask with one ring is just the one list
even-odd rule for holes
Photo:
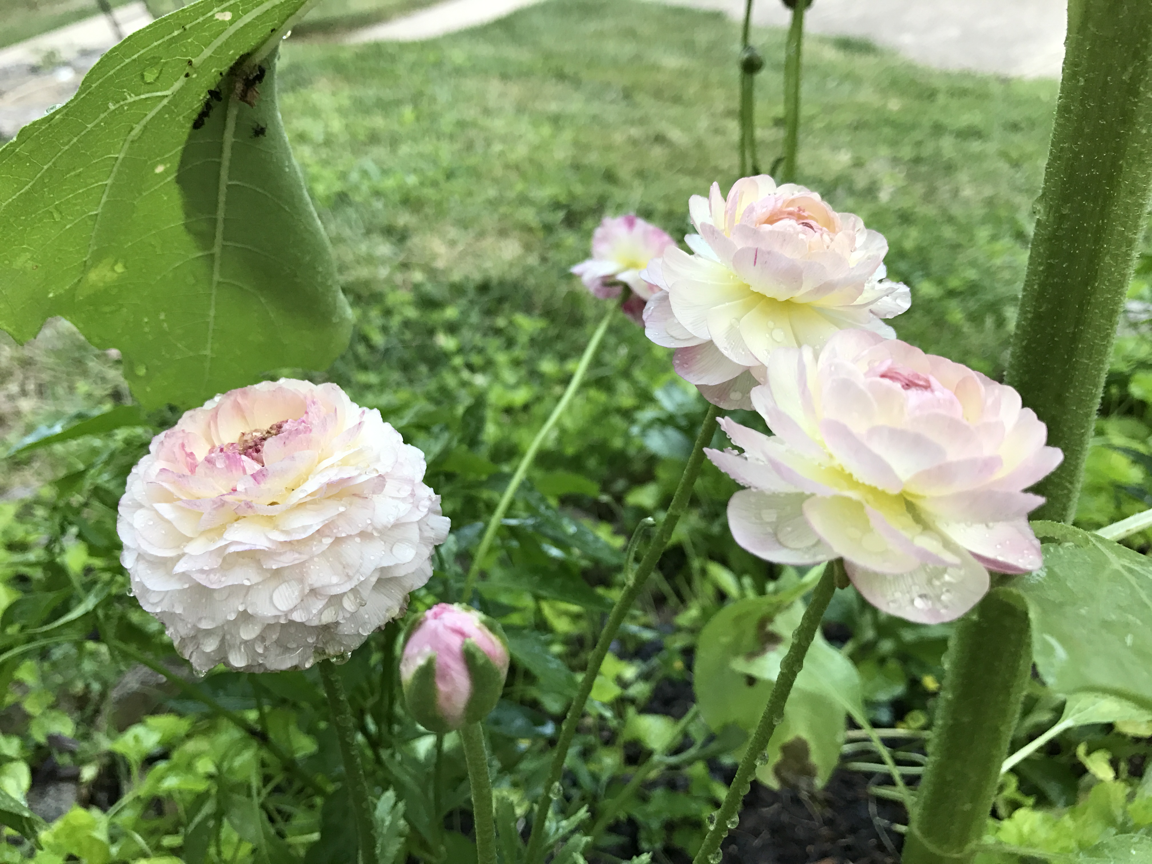
[[[359,321],[338,379],[384,408],[487,388],[513,411],[501,439],[529,435],[600,314],[567,273],[600,218],[680,235],[689,196],[736,179],[737,36],[719,14],[566,0],[431,43],[289,43],[282,112]],[[782,36],[756,33],[765,166]],[[1002,371],[1055,92],[809,40],[799,180],[887,236],[915,300],[903,339]],[[628,321],[609,342],[586,401],[613,411],[567,424],[573,453],[669,374]]]

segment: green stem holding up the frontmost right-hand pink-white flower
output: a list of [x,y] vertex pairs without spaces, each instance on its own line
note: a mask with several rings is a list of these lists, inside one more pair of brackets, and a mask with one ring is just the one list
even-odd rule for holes
[[760,722],[756,725],[756,732],[752,733],[752,737],[748,742],[744,756],[741,757],[736,776],[733,778],[732,786],[728,787],[723,804],[715,813],[715,824],[708,828],[707,836],[704,838],[699,851],[692,858],[692,864],[712,862],[713,856],[720,850],[720,843],[728,836],[730,831],[728,823],[734,820],[740,812],[740,805],[756,775],[756,761],[760,753],[767,750],[772,734],[785,718],[785,703],[788,702],[793,684],[796,683],[796,676],[799,675],[799,670],[804,666],[804,655],[808,654],[808,649],[812,644],[812,639],[816,638],[816,631],[820,627],[824,612],[828,608],[828,602],[836,592],[836,569],[831,566],[824,568],[824,575],[812,592],[812,599],[809,601],[808,608],[804,609],[804,616],[793,632],[788,653],[780,661],[780,674],[776,676],[776,683],[772,687],[772,695],[768,696],[768,704],[764,707]]

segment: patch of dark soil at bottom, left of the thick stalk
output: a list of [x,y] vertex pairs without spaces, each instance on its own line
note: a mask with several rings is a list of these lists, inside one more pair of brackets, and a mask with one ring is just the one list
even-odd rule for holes
[[870,796],[867,783],[855,771],[838,771],[810,794],[752,783],[740,825],[721,846],[723,864],[897,864],[903,838],[889,826],[908,817],[900,804]]

